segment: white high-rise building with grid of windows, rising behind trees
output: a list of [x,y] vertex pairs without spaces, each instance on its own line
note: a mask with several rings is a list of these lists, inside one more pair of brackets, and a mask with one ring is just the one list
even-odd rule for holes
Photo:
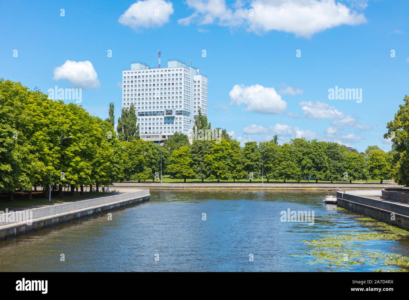
[[122,70],[122,107],[131,104],[143,140],[162,143],[175,132],[189,136],[199,107],[207,116],[207,76],[177,59],[164,68],[132,62]]

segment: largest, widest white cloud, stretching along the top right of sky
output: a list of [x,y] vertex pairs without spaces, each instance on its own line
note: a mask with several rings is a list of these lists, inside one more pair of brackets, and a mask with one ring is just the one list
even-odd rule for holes
[[[352,5],[363,9],[360,5]],[[253,0],[248,7],[237,1],[233,9],[225,0],[187,0],[186,4],[194,13],[178,20],[181,25],[197,22],[199,25],[219,24],[228,27],[245,27],[247,31],[265,33],[271,30],[294,33],[310,38],[326,29],[366,23],[362,13],[357,13],[335,0]],[[250,13],[249,9],[252,9]]]

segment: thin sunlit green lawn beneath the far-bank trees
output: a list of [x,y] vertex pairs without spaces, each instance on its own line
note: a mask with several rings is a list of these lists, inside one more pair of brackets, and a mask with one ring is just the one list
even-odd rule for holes
[[[384,180],[384,183],[390,182],[391,180]],[[126,182],[138,182],[137,180],[130,180]],[[142,181],[143,182],[143,181]],[[152,182],[152,180],[146,180],[146,182]],[[155,180],[155,182],[160,182],[160,180]],[[164,175],[162,178],[162,182],[181,182],[183,183],[183,179],[172,179],[169,175]],[[201,183],[202,180],[199,179],[187,179],[187,183]],[[217,180],[204,180],[203,183],[216,183]],[[233,180],[220,180],[220,182],[231,183]],[[236,180],[236,183],[249,183],[249,180]],[[260,179],[253,179],[252,183],[261,183]],[[264,183],[267,183],[267,179],[264,179]],[[270,180],[269,183],[283,183],[283,180]],[[285,180],[285,183],[297,183],[297,180]],[[300,183],[308,183],[308,180],[301,180]],[[315,183],[315,180],[310,180],[309,183]],[[318,180],[318,183],[331,183],[327,180]],[[337,183],[349,183],[349,180],[346,181],[334,181],[333,184]],[[354,180],[352,183],[366,183],[366,180]],[[369,183],[380,183],[380,180],[368,180]]]

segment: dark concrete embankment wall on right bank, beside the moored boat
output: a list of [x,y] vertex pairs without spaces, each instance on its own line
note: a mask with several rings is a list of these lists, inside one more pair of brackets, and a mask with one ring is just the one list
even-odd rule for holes
[[381,196],[381,191],[337,192],[337,204],[375,220],[409,230],[409,206],[370,196]]

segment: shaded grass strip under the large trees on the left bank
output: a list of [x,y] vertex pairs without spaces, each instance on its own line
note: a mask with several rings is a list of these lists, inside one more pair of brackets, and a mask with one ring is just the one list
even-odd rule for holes
[[[103,192],[85,192],[80,195],[80,192],[74,191],[74,195],[70,196],[70,192],[63,192],[63,197],[58,198],[58,191],[51,193],[51,203],[56,202],[69,202],[81,200],[84,198],[93,198],[97,196],[108,195],[108,193]],[[28,207],[31,205],[48,204],[48,197],[44,197],[44,191],[33,191],[33,199],[29,200],[27,192],[16,192],[13,195],[13,200],[9,201],[9,194],[0,195],[0,210],[4,211],[7,207],[8,209],[18,208],[18,207]]]

